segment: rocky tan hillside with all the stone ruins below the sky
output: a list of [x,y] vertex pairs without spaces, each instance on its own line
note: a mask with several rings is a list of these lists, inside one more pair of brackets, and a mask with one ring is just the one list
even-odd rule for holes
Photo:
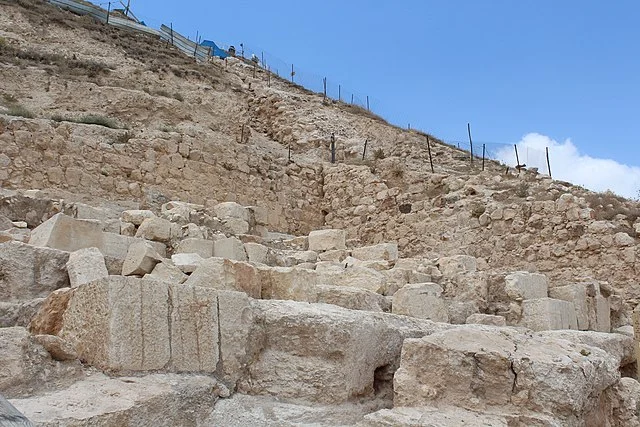
[[40,0],[0,82],[0,424],[640,426],[637,203]]

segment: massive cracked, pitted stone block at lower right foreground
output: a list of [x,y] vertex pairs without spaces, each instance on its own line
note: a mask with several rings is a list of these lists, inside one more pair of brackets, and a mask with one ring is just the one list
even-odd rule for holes
[[544,412],[585,425],[619,378],[617,360],[599,348],[466,325],[404,341],[394,406]]

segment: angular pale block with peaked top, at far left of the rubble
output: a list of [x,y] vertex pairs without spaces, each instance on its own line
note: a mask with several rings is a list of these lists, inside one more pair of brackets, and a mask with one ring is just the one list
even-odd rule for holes
[[73,252],[90,247],[102,248],[103,234],[100,222],[74,219],[59,213],[31,231],[29,244]]

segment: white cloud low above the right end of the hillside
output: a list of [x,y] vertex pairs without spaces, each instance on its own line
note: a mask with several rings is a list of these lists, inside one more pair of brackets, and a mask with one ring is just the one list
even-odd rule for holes
[[[638,197],[640,167],[594,158],[580,153],[570,139],[558,142],[538,133],[525,135],[517,145],[520,163],[537,167],[541,173],[547,173],[545,148],[549,147],[554,179],[569,181],[594,191],[611,190],[624,197]],[[513,147],[502,148],[494,155],[507,165],[516,163]]]

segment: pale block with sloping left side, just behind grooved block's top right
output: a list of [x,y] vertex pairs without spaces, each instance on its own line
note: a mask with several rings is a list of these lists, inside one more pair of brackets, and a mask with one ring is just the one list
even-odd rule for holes
[[254,266],[224,258],[202,261],[185,285],[245,292],[251,298],[261,298],[262,294],[260,276]]

